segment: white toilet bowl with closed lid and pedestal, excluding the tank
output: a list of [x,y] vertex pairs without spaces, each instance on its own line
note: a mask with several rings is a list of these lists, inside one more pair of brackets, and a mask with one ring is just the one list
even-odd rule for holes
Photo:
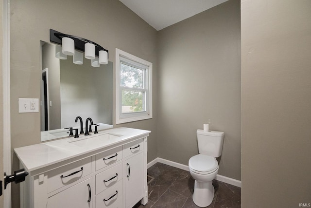
[[192,200],[199,207],[207,207],[214,198],[212,180],[218,172],[217,160],[212,156],[197,154],[190,158],[189,170],[195,180]]

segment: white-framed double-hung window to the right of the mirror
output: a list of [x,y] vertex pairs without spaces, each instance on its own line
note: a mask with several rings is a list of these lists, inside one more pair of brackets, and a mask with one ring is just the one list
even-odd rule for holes
[[116,49],[116,123],[152,118],[152,63]]

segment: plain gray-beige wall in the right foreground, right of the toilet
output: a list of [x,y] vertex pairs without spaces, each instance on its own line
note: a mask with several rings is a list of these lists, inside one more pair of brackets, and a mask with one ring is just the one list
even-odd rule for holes
[[245,0],[242,207],[311,203],[311,1]]

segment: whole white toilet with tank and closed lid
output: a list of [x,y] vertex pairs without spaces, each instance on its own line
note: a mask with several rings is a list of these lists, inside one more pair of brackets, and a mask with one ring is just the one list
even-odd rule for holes
[[198,129],[199,154],[189,159],[189,170],[194,181],[192,200],[199,207],[207,207],[214,198],[212,180],[218,172],[216,160],[222,154],[224,132],[203,131]]

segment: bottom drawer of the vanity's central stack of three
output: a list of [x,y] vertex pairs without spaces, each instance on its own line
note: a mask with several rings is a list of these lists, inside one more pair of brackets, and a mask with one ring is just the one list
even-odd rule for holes
[[123,181],[96,195],[96,208],[122,208],[123,207]]

